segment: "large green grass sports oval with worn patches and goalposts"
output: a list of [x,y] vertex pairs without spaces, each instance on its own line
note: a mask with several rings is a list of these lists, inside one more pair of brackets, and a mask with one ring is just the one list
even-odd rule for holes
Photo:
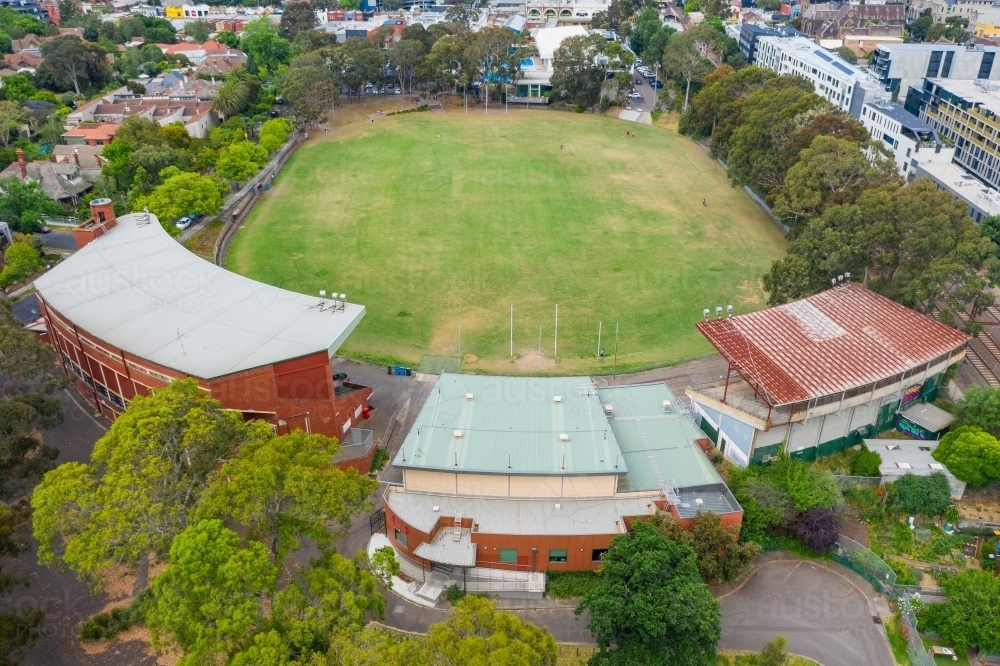
[[784,249],[774,223],[688,139],[501,109],[392,116],[311,139],[238,232],[227,266],[365,305],[349,355],[457,356],[461,326],[465,370],[602,373],[616,322],[619,370],[710,352],[694,327],[702,309],[762,307],[760,276]]

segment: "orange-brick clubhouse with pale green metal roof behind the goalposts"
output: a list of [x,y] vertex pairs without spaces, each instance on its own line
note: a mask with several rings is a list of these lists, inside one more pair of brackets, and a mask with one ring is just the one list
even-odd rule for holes
[[386,533],[404,572],[437,590],[453,577],[540,591],[542,572],[598,568],[656,511],[741,524],[701,444],[662,383],[444,374],[393,459],[403,483],[386,490]]

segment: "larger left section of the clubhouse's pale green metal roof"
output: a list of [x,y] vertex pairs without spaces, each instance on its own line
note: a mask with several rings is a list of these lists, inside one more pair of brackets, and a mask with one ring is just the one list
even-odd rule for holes
[[[569,442],[560,441],[562,434]],[[620,454],[588,377],[443,374],[393,465],[483,474],[624,474]]]

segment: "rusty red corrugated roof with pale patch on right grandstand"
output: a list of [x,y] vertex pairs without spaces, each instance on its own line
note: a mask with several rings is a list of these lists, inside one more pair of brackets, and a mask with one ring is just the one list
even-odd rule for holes
[[969,339],[855,283],[697,326],[776,405],[892,377],[959,349]]

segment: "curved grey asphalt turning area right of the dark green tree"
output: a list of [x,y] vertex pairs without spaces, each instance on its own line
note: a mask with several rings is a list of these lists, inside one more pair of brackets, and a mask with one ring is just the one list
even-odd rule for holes
[[[776,560],[720,597],[722,650],[760,650],[782,635],[788,651],[823,666],[894,666],[875,593],[836,565]],[[858,579],[860,581],[860,579]]]

